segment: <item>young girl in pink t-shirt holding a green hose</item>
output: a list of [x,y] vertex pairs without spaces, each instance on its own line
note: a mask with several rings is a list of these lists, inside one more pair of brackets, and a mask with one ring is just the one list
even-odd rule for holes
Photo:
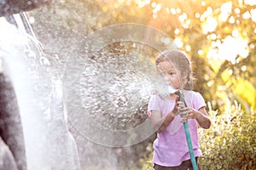
[[182,90],[187,106],[178,101],[175,90],[167,98],[154,94],[149,100],[148,113],[153,127],[157,130],[157,139],[154,140],[154,169],[193,169],[183,122],[189,123],[189,133],[197,160],[197,157],[201,156],[197,123],[206,129],[211,126],[205,101],[201,94],[190,89],[192,73],[186,54],[179,50],[167,50],[157,56],[155,63],[168,85],[172,89]]

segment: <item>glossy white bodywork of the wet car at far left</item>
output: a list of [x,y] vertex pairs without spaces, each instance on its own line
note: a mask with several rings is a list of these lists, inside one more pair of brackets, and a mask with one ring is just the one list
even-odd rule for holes
[[11,20],[15,22],[0,18],[0,56],[19,105],[27,169],[79,169],[76,145],[67,131],[60,78],[51,72],[37,39],[26,33],[24,17],[15,14]]

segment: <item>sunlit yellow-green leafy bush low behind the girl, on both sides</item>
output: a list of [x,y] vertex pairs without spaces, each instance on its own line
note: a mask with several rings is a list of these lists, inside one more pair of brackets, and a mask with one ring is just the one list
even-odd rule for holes
[[[227,104],[223,113],[212,111],[212,126],[199,128],[199,140],[203,156],[199,158],[201,170],[256,169],[256,119],[255,113],[246,113],[236,102]],[[149,153],[148,153],[149,152]],[[152,144],[139,160],[140,169],[151,170]]]

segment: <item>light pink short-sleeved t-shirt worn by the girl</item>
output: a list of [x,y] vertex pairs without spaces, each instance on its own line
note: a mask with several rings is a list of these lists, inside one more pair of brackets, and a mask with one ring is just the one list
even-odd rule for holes
[[[206,106],[201,94],[189,91],[185,95],[185,101],[188,107],[199,110]],[[148,103],[148,115],[151,111],[161,111],[162,116],[166,116],[174,108],[175,101],[164,99],[160,95],[153,95]],[[153,162],[165,166],[176,167],[183,161],[189,160],[189,148],[184,132],[183,122],[180,116],[176,116],[166,130],[157,133],[157,139],[154,140]],[[201,156],[201,150],[198,143],[197,124],[195,119],[189,119],[189,133],[194,149],[195,156]]]

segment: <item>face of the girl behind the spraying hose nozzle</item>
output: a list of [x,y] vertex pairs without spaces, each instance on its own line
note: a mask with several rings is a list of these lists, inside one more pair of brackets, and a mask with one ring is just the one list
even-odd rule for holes
[[160,62],[158,68],[164,74],[168,85],[172,86],[174,89],[183,88],[184,79],[181,77],[181,72],[176,69],[172,62]]

